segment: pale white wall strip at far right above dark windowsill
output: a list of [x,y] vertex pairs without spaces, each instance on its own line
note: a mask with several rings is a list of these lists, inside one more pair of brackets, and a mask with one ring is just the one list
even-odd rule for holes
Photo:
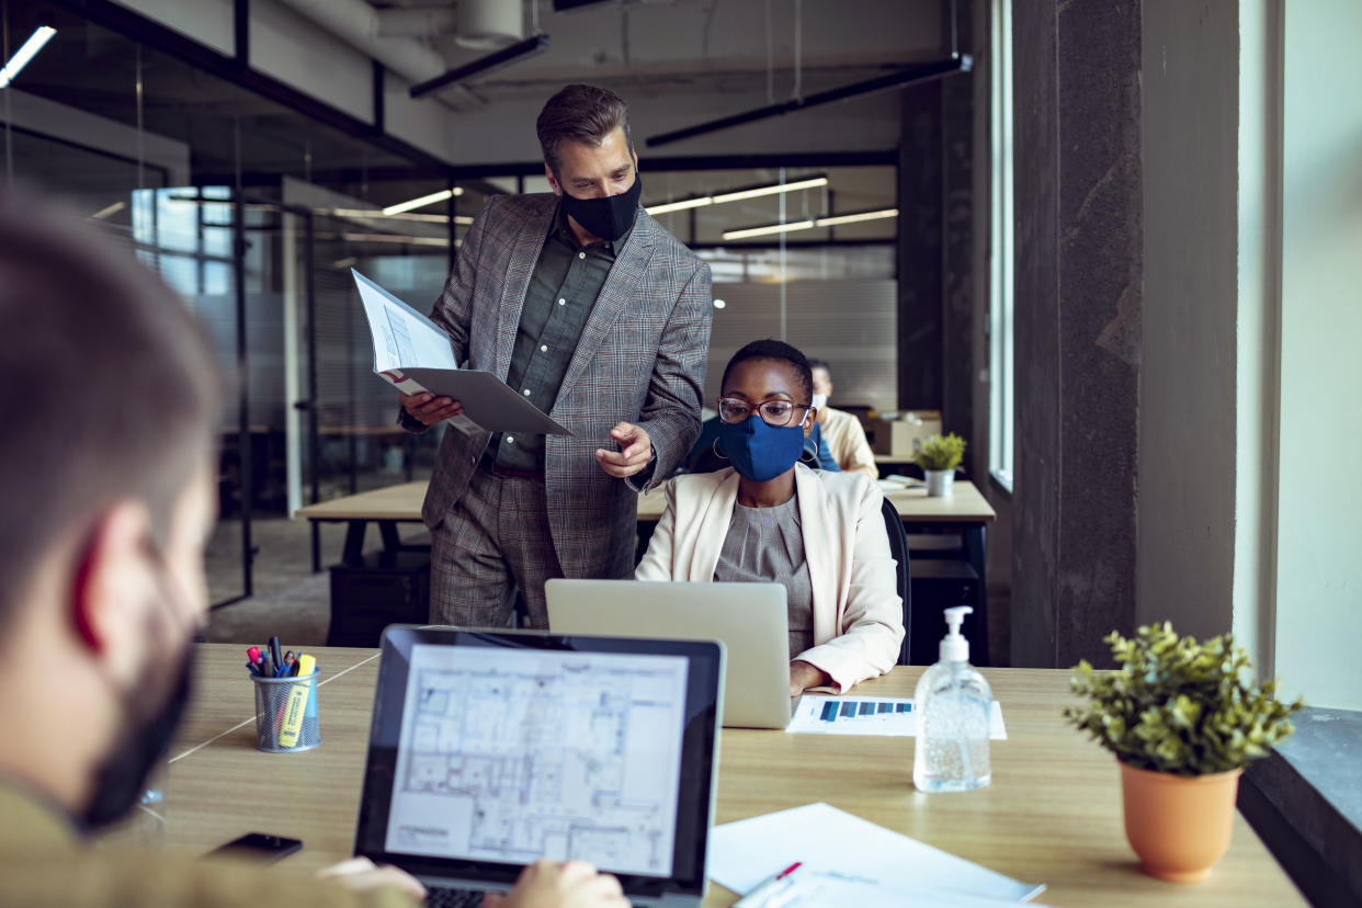
[[1362,4],[1284,5],[1276,670],[1362,708]]

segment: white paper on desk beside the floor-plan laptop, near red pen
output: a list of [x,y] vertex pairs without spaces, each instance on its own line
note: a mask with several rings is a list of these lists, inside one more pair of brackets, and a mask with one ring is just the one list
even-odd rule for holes
[[804,863],[795,874],[808,869],[854,877],[881,893],[899,893],[900,905],[903,896],[926,892],[1027,901],[1045,890],[824,803],[727,822],[710,833],[710,879],[740,894],[795,860]]

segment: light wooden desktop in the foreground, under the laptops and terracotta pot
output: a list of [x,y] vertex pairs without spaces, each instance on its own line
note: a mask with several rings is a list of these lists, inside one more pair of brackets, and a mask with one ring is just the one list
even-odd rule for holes
[[[200,682],[173,751],[166,848],[203,854],[247,832],[304,841],[287,859],[315,870],[350,855],[368,742],[372,649],[317,649],[321,746],[301,754],[255,750],[251,683],[242,647],[200,644]],[[918,667],[859,687],[911,696]],[[904,738],[787,735],[725,730],[715,822],[825,800],[1019,879],[1045,882],[1051,905],[1158,908],[1306,904],[1248,822],[1235,815],[1230,852],[1201,883],[1166,883],[1140,873],[1125,841],[1115,764],[1060,717],[1066,671],[992,668],[1008,741],[992,746],[993,784],[962,795],[913,788]],[[711,886],[708,908],[734,896]]]

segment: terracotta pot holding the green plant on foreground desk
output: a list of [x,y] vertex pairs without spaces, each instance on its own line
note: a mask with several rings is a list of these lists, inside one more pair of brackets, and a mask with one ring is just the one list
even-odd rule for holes
[[1121,764],[1125,837],[1151,877],[1204,879],[1230,847],[1242,769],[1174,776]]

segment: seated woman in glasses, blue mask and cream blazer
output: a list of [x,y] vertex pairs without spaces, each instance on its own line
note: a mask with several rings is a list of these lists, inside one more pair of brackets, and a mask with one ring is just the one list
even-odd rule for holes
[[729,361],[720,388],[715,451],[733,466],[671,481],[635,579],[785,584],[791,697],[888,671],[903,609],[883,496],[862,474],[797,463],[817,417],[808,359],[756,340]]

